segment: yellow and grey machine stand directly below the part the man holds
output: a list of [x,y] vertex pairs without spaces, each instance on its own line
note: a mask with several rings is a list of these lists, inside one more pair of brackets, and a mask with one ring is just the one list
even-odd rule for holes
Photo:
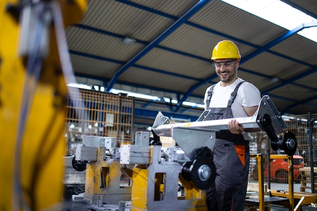
[[148,132],[137,132],[135,145],[121,145],[120,162],[135,164],[130,210],[207,210],[206,191],[182,175],[189,161],[180,147],[149,146]]

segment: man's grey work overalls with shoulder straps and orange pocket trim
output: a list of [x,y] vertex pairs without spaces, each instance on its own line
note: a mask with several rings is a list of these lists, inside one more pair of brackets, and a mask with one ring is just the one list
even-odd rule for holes
[[[226,108],[210,108],[214,85],[208,91],[207,109],[212,115],[204,120],[233,118],[231,105],[235,99],[240,82],[231,93]],[[207,205],[210,211],[243,211],[249,174],[249,140],[242,134],[232,134],[229,130],[216,132],[213,149],[213,162],[216,167],[215,186],[207,190]]]

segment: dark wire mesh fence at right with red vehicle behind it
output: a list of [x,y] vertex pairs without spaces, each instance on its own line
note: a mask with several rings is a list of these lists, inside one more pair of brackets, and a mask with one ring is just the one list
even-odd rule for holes
[[[290,131],[297,139],[297,151],[293,155],[293,184],[295,192],[317,193],[317,114],[303,114],[283,118],[287,129],[279,138]],[[266,133],[252,133],[250,153],[263,154],[264,181],[270,189],[289,191],[289,163],[287,159],[270,159],[271,154],[285,154],[283,150],[274,151]],[[249,180],[258,179],[258,166],[250,159]],[[313,181],[311,181],[311,178]],[[313,188],[312,188],[313,186]]]

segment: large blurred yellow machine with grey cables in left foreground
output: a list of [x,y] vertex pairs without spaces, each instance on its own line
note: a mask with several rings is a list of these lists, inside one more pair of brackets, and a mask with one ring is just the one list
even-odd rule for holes
[[64,26],[79,22],[87,3],[33,2],[0,2],[2,210],[57,209],[63,194],[64,99],[72,72]]

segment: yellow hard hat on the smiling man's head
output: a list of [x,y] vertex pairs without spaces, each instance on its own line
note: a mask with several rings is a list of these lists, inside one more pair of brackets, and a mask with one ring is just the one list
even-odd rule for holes
[[237,59],[240,60],[240,52],[234,43],[230,40],[220,41],[214,48],[211,60],[216,59]]

